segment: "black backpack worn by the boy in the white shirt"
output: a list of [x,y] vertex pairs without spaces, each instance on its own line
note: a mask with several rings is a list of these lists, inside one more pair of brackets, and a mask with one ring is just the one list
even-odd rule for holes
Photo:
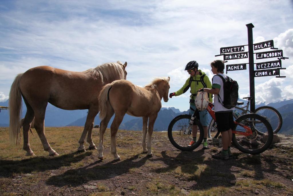
[[[223,76],[217,74],[216,76],[219,76],[222,78],[224,86],[224,100],[221,99],[220,95],[218,95],[219,102],[227,109],[231,109],[236,106],[237,100],[238,100],[238,83],[235,80],[232,80],[227,76],[225,79]],[[213,77],[214,79],[214,77]],[[221,101],[220,101],[221,99]]]

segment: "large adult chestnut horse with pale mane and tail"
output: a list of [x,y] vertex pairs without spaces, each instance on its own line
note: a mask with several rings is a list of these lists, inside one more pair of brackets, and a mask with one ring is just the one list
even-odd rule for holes
[[115,80],[126,79],[127,72],[121,62],[105,63],[83,72],[66,71],[50,66],[31,68],[18,74],[12,83],[9,93],[10,141],[19,144],[21,96],[27,112],[23,120],[23,149],[26,155],[35,155],[30,149],[28,130],[35,118],[35,130],[38,133],[44,150],[49,155],[58,155],[45,137],[45,111],[48,102],[64,110],[88,109],[84,131],[79,139],[78,151],[85,151],[84,140],[88,133],[89,149],[97,149],[92,140],[92,129],[95,116],[99,111],[98,96],[105,84]]

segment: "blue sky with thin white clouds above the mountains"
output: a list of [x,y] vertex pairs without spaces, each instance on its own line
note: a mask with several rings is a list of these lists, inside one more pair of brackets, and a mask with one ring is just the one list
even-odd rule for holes
[[[171,93],[188,79],[184,68],[192,60],[211,80],[210,63],[223,60],[215,55],[221,47],[247,45],[250,23],[253,43],[273,40],[289,57],[280,71],[286,78],[255,78],[255,102],[292,99],[293,1],[1,0],[0,102],[9,98],[16,75],[30,68],[85,71],[116,61],[127,61],[127,80],[138,86],[170,76]],[[255,52],[262,51],[271,49]],[[254,55],[255,63],[274,60]],[[248,58],[226,64],[236,63],[248,63]],[[239,98],[250,95],[248,65],[228,76],[239,83]],[[162,106],[186,111],[189,96],[187,91],[162,100]]]

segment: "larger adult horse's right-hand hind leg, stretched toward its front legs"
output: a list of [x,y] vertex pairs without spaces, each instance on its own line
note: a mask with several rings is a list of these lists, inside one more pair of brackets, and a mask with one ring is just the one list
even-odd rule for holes
[[45,136],[45,110],[46,107],[38,111],[35,110],[35,130],[39,135],[44,150],[49,152],[49,156],[58,156],[59,154],[51,148]]

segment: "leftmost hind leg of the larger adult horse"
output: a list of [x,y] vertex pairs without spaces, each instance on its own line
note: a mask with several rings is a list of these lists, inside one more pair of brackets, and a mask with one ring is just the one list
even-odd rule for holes
[[30,141],[28,131],[30,130],[31,123],[34,119],[33,108],[24,100],[27,111],[25,118],[22,120],[22,130],[23,130],[23,150],[26,151],[25,156],[35,156],[34,152],[30,149]]

